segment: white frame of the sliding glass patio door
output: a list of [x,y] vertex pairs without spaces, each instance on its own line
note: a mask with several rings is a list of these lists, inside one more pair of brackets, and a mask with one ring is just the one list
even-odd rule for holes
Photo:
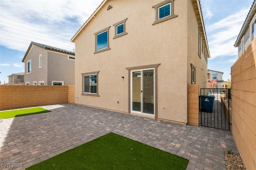
[[[144,78],[144,76],[143,76],[143,71],[148,71],[148,70],[153,70],[154,71],[154,80],[153,80],[153,82],[154,82],[154,87],[153,87],[153,89],[154,89],[154,109],[153,109],[153,112],[154,112],[154,114],[150,114],[150,113],[143,113],[143,108],[144,108],[144,104],[143,104],[143,78]],[[156,79],[156,77],[155,77],[155,68],[154,67],[151,67],[151,68],[145,68],[145,69],[136,69],[136,70],[130,70],[130,111],[132,112],[132,113],[138,113],[138,114],[142,114],[142,115],[148,115],[148,116],[154,116],[155,117],[155,107],[156,107],[156,104],[155,104],[155,96],[156,96],[156,88],[155,88],[155,79]],[[133,89],[133,85],[132,85],[132,73],[133,72],[136,72],[136,71],[140,71],[141,73],[140,73],[140,75],[141,75],[141,77],[140,77],[140,90],[141,90],[141,93],[140,93],[140,112],[139,111],[133,111],[133,109],[132,109],[132,107],[133,107],[133,97],[132,97],[132,89]]]

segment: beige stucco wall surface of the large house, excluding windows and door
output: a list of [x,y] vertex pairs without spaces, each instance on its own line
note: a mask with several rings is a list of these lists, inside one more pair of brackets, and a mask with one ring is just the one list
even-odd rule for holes
[[[174,14],[178,17],[152,25],[156,11],[152,6],[160,2],[162,0],[106,2],[96,18],[80,32],[75,39],[75,103],[127,113],[130,77],[126,68],[160,63],[157,67],[157,117],[187,123],[187,75],[191,74],[188,73],[190,65],[188,69],[187,59],[188,1],[174,1]],[[107,10],[108,5],[113,8]],[[128,34],[113,39],[113,24],[125,18],[128,18]],[[94,33],[108,26],[111,49],[94,54]],[[198,35],[198,31],[189,34]],[[81,95],[81,73],[93,71],[99,71],[100,97]],[[121,79],[122,76],[124,79]]]

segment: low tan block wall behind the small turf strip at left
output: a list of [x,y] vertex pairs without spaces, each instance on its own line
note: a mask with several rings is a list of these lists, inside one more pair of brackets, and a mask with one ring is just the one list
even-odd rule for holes
[[74,85],[1,85],[0,110],[74,103]]

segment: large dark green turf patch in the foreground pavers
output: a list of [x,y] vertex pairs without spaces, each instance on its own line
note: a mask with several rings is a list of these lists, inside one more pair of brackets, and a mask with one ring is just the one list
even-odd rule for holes
[[112,132],[26,170],[185,170],[188,160]]

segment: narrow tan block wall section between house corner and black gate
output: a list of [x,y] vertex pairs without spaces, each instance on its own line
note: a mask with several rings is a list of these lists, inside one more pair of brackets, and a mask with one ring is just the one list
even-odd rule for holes
[[188,125],[199,126],[199,85],[188,85]]

